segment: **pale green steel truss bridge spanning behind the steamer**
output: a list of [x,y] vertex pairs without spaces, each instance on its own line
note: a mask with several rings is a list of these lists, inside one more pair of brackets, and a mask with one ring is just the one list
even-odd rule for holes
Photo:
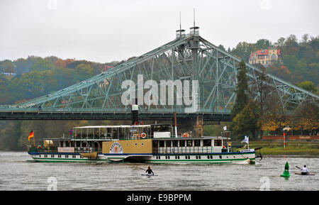
[[[83,82],[21,104],[0,106],[0,119],[130,119],[131,106],[124,105],[121,101],[127,90],[122,88],[122,84],[125,80],[133,80],[137,85],[138,74],[142,74],[144,82],[197,80],[199,89],[198,94],[192,96],[198,101],[196,111],[186,113],[185,108],[189,106],[177,105],[177,99],[181,97],[177,96],[174,104],[140,104],[140,119],[172,119],[176,111],[178,118],[195,118],[201,115],[203,121],[230,121],[231,109],[236,99],[239,62],[240,58],[202,38],[198,27],[192,27],[189,34],[179,30],[177,38],[171,42]],[[262,70],[248,63],[246,69],[250,86],[257,86]],[[267,78],[267,84],[273,88],[272,92],[278,94],[280,104],[285,109],[294,109],[309,100],[318,103],[319,96],[316,94],[271,74],[267,74]],[[174,89],[176,96],[177,89],[180,88]],[[142,94],[148,90],[150,89],[144,89]],[[153,97],[157,95],[151,94]],[[186,95],[191,94],[184,93],[184,97]],[[256,92],[255,98],[258,97],[259,93]]]

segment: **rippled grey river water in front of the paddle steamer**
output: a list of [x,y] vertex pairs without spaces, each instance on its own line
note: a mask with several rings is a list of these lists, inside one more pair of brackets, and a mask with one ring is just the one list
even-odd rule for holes
[[[0,152],[0,190],[319,190],[319,157],[264,156],[256,165],[150,164],[154,177],[141,175],[149,164],[28,160],[27,153]],[[280,177],[286,162],[289,179]],[[303,165],[315,176],[294,174]]]

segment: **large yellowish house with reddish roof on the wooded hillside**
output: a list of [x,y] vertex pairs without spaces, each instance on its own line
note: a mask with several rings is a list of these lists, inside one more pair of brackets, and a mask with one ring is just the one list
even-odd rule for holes
[[260,63],[264,67],[273,65],[274,62],[281,60],[281,52],[278,49],[257,50],[250,54],[250,64]]

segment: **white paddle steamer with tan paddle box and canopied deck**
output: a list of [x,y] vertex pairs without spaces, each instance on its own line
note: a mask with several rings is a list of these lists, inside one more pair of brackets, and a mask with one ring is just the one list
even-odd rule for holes
[[81,126],[67,137],[30,145],[36,162],[254,163],[256,150],[237,150],[230,138],[174,135],[167,124]]

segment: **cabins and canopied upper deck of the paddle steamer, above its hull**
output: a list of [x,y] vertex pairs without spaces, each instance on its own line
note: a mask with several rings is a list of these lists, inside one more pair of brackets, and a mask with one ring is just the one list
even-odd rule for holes
[[[223,140],[230,138],[221,136],[192,137],[189,133],[173,135],[169,125],[138,125],[138,126],[79,126],[69,131],[62,138],[43,138],[46,150],[72,148],[74,152],[90,152],[111,145],[112,141],[130,144],[135,147],[141,143],[150,146],[152,153],[174,152],[222,152],[225,147]],[[148,140],[148,141],[147,141]],[[143,142],[142,142],[143,141]],[[132,144],[133,143],[133,144]],[[132,145],[131,145],[132,144]],[[136,145],[135,145],[136,144]],[[227,145],[227,143],[226,143]],[[140,147],[135,152],[139,152]]]

